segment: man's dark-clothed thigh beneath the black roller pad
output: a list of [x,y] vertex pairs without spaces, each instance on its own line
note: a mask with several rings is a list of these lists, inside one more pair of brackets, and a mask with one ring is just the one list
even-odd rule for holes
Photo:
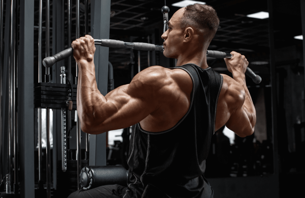
[[68,198],[122,198],[126,193],[126,186],[106,185],[89,190],[77,190],[70,194]]

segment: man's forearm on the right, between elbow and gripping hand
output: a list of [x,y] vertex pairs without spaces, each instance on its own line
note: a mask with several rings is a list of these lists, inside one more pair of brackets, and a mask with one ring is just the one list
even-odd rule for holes
[[241,72],[232,72],[232,74],[233,74],[233,79],[236,80],[239,84],[241,84],[245,90],[245,102],[244,102],[242,108],[246,111],[246,114],[249,117],[251,126],[254,127],[255,123],[256,123],[256,111],[255,111],[255,107],[254,107],[251,95],[246,86],[245,74],[241,73]]

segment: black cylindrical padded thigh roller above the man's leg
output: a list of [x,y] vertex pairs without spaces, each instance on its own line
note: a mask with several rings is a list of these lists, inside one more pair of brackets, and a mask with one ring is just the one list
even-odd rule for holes
[[81,170],[80,181],[83,190],[98,186],[127,186],[128,171],[123,166],[85,166]]

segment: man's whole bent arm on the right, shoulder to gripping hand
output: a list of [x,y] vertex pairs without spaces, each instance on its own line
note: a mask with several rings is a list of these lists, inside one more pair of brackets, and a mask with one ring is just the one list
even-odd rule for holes
[[225,124],[240,137],[252,135],[256,123],[256,111],[246,86],[245,72],[248,61],[245,56],[232,51],[231,59],[225,58],[233,78],[222,74],[224,80],[217,105],[215,130]]

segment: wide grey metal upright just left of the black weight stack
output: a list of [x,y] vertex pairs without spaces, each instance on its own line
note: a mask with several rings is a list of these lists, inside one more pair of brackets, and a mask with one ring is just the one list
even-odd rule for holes
[[34,197],[34,0],[20,1],[18,134],[20,195]]

